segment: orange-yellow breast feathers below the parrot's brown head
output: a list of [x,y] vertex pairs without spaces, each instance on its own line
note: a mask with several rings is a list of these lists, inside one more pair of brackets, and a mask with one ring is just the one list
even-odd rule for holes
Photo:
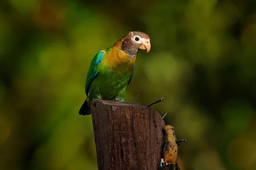
[[105,62],[107,62],[108,69],[119,70],[128,68],[129,71],[133,71],[135,59],[136,57],[130,58],[129,54],[126,54],[119,48],[112,47],[111,52],[106,56]]

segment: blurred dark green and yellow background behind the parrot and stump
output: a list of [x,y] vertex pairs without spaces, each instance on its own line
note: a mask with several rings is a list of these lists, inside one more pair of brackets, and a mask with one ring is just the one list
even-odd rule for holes
[[93,56],[143,31],[126,101],[175,127],[182,170],[256,169],[255,0],[3,0],[0,169],[96,170],[78,111]]

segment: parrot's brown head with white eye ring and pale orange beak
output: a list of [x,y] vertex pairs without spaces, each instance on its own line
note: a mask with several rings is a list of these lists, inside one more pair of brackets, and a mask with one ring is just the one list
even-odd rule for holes
[[139,49],[148,52],[151,47],[148,35],[140,31],[131,31],[120,40],[122,51],[130,55],[135,55]]

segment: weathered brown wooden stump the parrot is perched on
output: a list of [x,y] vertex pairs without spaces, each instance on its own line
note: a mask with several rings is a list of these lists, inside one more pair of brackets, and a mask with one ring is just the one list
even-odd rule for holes
[[99,170],[157,170],[165,125],[157,111],[113,100],[90,106]]

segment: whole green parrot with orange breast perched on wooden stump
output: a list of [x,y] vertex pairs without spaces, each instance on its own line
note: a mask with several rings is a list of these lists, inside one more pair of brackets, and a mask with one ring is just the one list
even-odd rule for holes
[[130,31],[92,59],[85,82],[85,99],[79,115],[90,115],[92,99],[125,101],[125,91],[131,82],[139,49],[150,50],[150,39],[140,31]]

